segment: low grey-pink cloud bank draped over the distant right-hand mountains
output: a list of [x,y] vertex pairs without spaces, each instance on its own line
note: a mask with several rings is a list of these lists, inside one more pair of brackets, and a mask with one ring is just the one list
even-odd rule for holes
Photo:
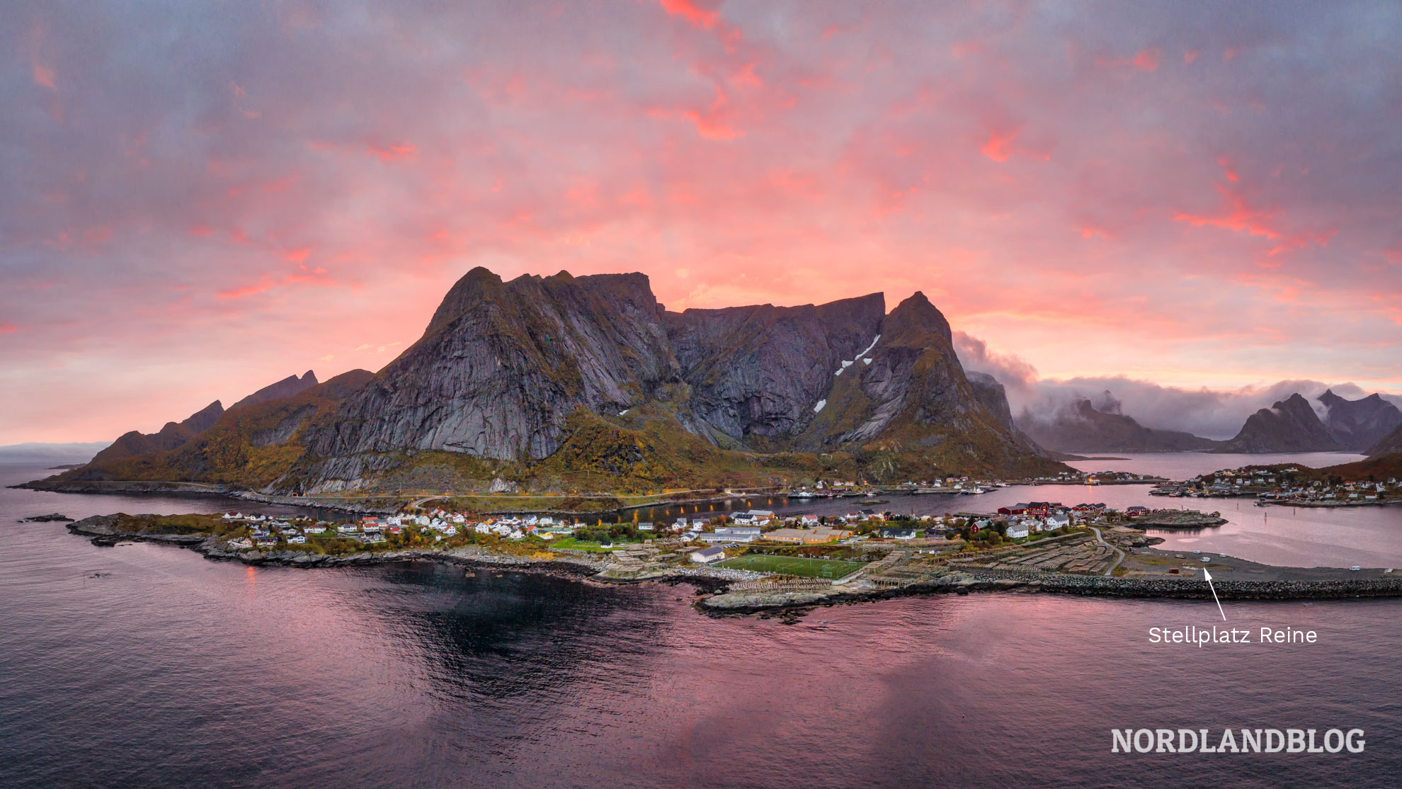
[[[1103,392],[1110,392],[1116,401],[1113,411],[1133,416],[1145,427],[1227,440],[1237,436],[1246,418],[1262,408],[1288,399],[1293,394],[1302,395],[1321,419],[1328,416],[1328,409],[1319,402],[1325,391],[1332,390],[1333,394],[1349,399],[1371,394],[1352,383],[1308,378],[1238,390],[1165,387],[1124,376],[1050,380],[1040,378],[1036,367],[1026,360],[990,350],[981,339],[965,332],[953,332],[953,345],[965,369],[988,373],[1007,388],[1012,413],[1023,422],[1052,422],[1060,411],[1074,406],[1082,398],[1091,399],[1101,408],[1108,405],[1101,402]],[[1402,406],[1399,395],[1382,392],[1381,397]]]

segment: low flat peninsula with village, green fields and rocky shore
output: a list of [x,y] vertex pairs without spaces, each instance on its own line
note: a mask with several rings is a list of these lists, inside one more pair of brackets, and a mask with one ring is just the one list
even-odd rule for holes
[[67,528],[98,545],[165,542],[248,565],[435,561],[592,583],[684,582],[698,590],[697,608],[712,615],[1000,590],[1204,598],[1210,596],[1204,569],[1217,579],[1223,598],[1402,596],[1402,582],[1391,569],[1276,568],[1225,555],[1159,551],[1152,548],[1158,540],[1143,531],[1150,521],[1103,507],[1074,520],[890,513],[785,519],[751,510],[672,524],[425,509],[349,521],[118,513]]

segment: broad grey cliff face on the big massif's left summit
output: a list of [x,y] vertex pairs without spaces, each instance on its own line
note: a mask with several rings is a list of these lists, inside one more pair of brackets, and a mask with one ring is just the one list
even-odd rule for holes
[[646,276],[502,282],[478,268],[310,447],[329,458],[446,450],[540,460],[561,446],[576,408],[618,413],[679,381]]

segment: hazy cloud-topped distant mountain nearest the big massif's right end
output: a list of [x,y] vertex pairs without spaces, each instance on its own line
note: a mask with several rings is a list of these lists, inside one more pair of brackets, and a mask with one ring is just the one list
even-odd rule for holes
[[1037,444],[1063,453],[1206,451],[1218,444],[1192,433],[1145,427],[1120,413],[1110,392],[1101,402],[1102,408],[1096,408],[1088,398],[1077,398],[1049,419],[1023,412],[1018,426]]

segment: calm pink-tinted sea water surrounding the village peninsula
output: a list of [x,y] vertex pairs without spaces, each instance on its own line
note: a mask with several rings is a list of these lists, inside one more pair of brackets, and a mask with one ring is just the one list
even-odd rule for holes
[[[0,467],[6,485],[38,475]],[[1059,490],[1011,495],[1089,498]],[[1136,489],[1094,498],[1119,490]],[[252,509],[0,489],[0,786],[1391,788],[1402,775],[1402,601],[1228,603],[1232,625],[1319,640],[1171,647],[1148,628],[1220,625],[1216,607],[938,596],[782,625],[701,617],[688,587],[426,562],[255,569],[15,523],[226,507]],[[1402,555],[1396,521],[1326,514],[1333,531],[1311,537],[1276,510],[1269,526],[1244,512],[1235,540]],[[1228,726],[1359,727],[1367,750],[1110,754],[1112,727],[1216,739]]]

